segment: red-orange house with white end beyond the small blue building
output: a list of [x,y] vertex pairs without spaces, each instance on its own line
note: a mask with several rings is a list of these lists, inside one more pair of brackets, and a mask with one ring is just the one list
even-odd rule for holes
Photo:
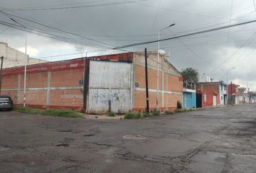
[[226,105],[226,84],[223,81],[197,83],[197,107]]

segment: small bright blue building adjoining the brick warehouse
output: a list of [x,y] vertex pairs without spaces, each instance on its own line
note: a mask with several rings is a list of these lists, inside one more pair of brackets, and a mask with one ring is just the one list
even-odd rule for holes
[[196,93],[194,89],[183,89],[182,107],[192,109],[197,107]]

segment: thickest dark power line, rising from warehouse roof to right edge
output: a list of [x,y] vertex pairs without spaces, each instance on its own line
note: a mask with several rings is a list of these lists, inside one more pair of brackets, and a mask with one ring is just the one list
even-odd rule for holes
[[129,48],[129,47],[133,47],[133,46],[136,46],[136,45],[147,45],[147,44],[150,44],[150,43],[157,43],[158,41],[162,42],[162,41],[166,41],[166,40],[174,40],[174,39],[180,38],[180,37],[188,37],[188,36],[191,36],[191,35],[199,35],[199,34],[203,34],[203,33],[206,33],[206,32],[213,32],[213,31],[216,31],[216,30],[223,30],[223,29],[226,29],[226,28],[236,27],[236,26],[239,26],[239,25],[246,25],[246,24],[253,23],[253,22],[256,22],[256,20],[251,20],[249,22],[242,22],[242,23],[238,23],[238,24],[234,24],[234,25],[227,25],[227,26],[223,26],[223,27],[216,27],[216,28],[213,28],[213,29],[203,30],[203,31],[199,31],[199,32],[192,32],[192,33],[189,33],[189,34],[186,34],[186,35],[168,37],[168,38],[164,38],[164,39],[161,39],[161,40],[153,40],[153,41],[142,42],[142,43],[122,45],[122,46],[116,47],[114,49]]

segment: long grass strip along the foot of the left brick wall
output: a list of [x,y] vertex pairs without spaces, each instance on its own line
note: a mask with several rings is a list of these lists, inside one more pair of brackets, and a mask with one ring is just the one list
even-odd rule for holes
[[73,110],[43,110],[35,109],[30,107],[14,107],[14,110],[17,112],[27,113],[27,114],[36,114],[36,115],[51,115],[56,117],[75,117],[82,118],[81,113],[75,112]]

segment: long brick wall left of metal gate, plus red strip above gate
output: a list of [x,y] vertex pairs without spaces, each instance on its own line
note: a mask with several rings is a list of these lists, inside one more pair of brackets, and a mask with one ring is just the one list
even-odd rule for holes
[[[96,56],[93,60],[132,61],[131,53]],[[30,107],[83,110],[84,58],[27,66],[26,105]],[[4,68],[1,94],[23,105],[24,66]]]

